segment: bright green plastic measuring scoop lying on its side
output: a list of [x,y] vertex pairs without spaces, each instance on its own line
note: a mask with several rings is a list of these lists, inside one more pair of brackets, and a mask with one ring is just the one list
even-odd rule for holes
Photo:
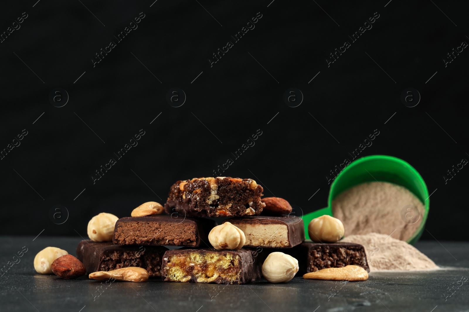
[[308,235],[308,225],[312,219],[322,215],[333,216],[332,201],[336,196],[358,184],[374,181],[386,181],[401,185],[411,191],[425,204],[425,210],[420,216],[422,222],[416,232],[407,240],[409,244],[416,243],[420,236],[422,236],[430,209],[427,186],[422,176],[414,167],[404,160],[386,155],[372,155],[355,160],[337,175],[329,191],[327,207],[310,212],[302,217],[306,239],[310,238]]

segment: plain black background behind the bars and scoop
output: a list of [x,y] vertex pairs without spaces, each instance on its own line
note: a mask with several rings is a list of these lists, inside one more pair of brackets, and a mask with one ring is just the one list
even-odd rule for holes
[[[469,52],[446,67],[443,61],[469,43],[461,3],[33,0],[1,6],[1,33],[28,15],[0,43],[0,149],[28,131],[0,160],[1,234],[44,229],[44,235],[85,236],[99,212],[123,217],[146,201],[164,203],[175,181],[216,176],[213,170],[228,158],[234,163],[221,175],[253,178],[265,196],[314,211],[326,206],[329,171],[378,129],[360,156],[406,160],[429,192],[436,190],[422,239],[467,239],[469,169],[446,184],[443,178],[469,159]],[[140,12],[138,28],[118,42],[114,36]],[[255,28],[234,42],[231,36],[258,12]],[[348,36],[375,12],[372,28],[328,67],[329,53],[351,42]],[[111,41],[116,47],[93,67],[95,53]],[[227,41],[234,46],[211,67],[212,53]],[[69,95],[61,108],[49,101],[57,87]],[[187,96],[178,108],[166,102],[173,87]],[[290,87],[304,96],[295,108],[283,101]],[[408,87],[421,95],[412,108],[400,100]],[[118,160],[114,152],[141,129],[138,145]],[[255,145],[234,159],[258,129]],[[93,184],[95,170],[111,158],[117,163]],[[54,205],[68,210],[61,225],[49,217]]]

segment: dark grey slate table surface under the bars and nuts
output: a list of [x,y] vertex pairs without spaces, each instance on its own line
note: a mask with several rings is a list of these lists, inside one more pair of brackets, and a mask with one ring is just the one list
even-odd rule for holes
[[460,282],[469,277],[469,242],[418,242],[416,247],[444,269],[377,272],[364,282],[295,277],[283,284],[261,279],[225,286],[151,279],[146,283],[116,281],[106,287],[87,277],[62,280],[34,270],[33,259],[39,250],[53,246],[75,254],[81,238],[33,239],[1,237],[2,267],[24,246],[28,251],[0,276],[0,311],[469,311],[469,281]]

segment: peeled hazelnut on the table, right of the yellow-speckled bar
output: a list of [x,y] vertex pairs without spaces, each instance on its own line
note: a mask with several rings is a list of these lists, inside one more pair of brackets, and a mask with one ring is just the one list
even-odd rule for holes
[[262,275],[271,283],[283,283],[291,280],[298,269],[298,260],[291,255],[274,252],[265,259],[262,265]]

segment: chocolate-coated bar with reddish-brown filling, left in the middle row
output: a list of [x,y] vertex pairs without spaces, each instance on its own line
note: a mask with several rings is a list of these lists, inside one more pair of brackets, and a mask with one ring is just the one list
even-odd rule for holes
[[163,245],[199,247],[208,244],[208,233],[217,224],[204,218],[153,215],[117,220],[116,245]]

